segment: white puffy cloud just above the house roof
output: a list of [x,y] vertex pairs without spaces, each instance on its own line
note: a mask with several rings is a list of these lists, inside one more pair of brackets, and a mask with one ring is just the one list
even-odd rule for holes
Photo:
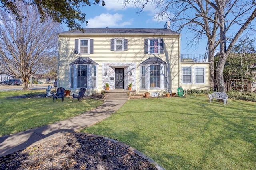
[[126,25],[132,24],[132,19],[130,21],[123,21],[122,14],[109,14],[102,13],[100,16],[95,16],[94,18],[88,19],[87,28],[102,28],[102,27],[124,27]]

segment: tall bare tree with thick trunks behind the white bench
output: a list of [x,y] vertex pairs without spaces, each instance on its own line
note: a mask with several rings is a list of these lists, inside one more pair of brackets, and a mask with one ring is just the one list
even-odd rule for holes
[[205,37],[208,39],[211,89],[214,87],[214,51],[219,47],[216,79],[218,91],[225,92],[223,68],[226,57],[246,29],[254,30],[255,0],[125,0],[126,5],[131,3],[139,6],[140,12],[147,4],[155,4],[160,9],[158,19],[167,16],[172,29],[178,32],[185,29],[186,33],[194,34],[190,45],[198,44]]

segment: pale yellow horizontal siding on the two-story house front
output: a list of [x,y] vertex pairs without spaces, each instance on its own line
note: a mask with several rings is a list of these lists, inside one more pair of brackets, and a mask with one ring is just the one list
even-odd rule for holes
[[[74,54],[75,39],[94,39],[93,54]],[[169,73],[169,89],[176,90],[179,85],[179,37],[122,37],[128,39],[128,51],[110,51],[110,39],[115,37],[59,37],[58,42],[58,80],[59,86],[69,88],[69,64],[78,57],[90,57],[98,63],[98,90],[102,90],[102,63],[136,63],[136,90],[140,93],[138,80],[140,78],[139,64],[149,57],[160,57],[166,61]],[[144,39],[161,38],[164,39],[164,54],[149,55],[144,54]],[[156,90],[154,90],[156,91]],[[141,91],[143,92],[143,91]]]

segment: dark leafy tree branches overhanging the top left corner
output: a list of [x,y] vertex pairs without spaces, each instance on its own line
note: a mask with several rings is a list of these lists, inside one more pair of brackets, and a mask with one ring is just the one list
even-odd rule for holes
[[104,0],[0,0],[0,8],[6,12],[11,12],[15,15],[16,20],[21,21],[24,18],[20,13],[18,4],[30,5],[38,9],[42,22],[51,18],[57,23],[65,23],[71,30],[81,29],[81,23],[87,23],[85,14],[80,10],[83,6],[91,6]]

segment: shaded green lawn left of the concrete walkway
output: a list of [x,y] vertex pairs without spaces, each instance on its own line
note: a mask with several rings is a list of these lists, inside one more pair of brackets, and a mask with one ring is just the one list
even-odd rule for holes
[[0,92],[0,136],[40,127],[100,106],[102,101],[84,99],[81,102],[65,97],[64,102],[49,98],[6,99],[10,96],[45,93],[45,90]]

